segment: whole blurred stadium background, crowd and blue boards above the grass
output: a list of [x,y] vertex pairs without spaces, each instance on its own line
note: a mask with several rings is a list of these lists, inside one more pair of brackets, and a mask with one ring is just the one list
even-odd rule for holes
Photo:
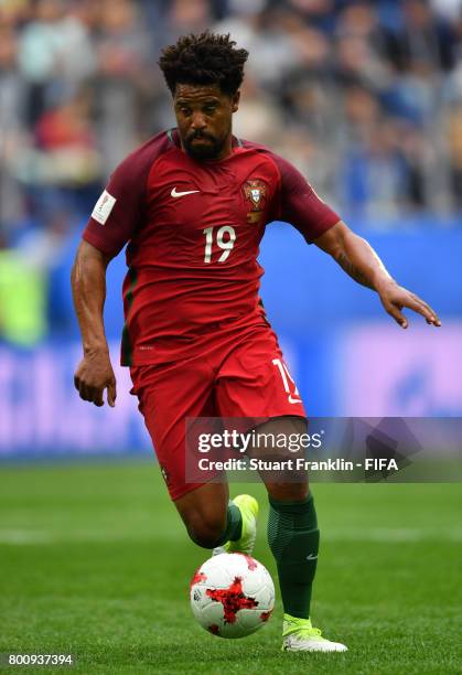
[[[3,0],[0,453],[149,451],[128,374],[116,410],[73,390],[69,269],[109,172],[172,126],[155,65],[187,31],[249,49],[237,135],[291,160],[441,313],[407,333],[284,224],[262,298],[311,415],[462,414],[462,13],[458,0]],[[121,255],[106,325],[118,361]]]

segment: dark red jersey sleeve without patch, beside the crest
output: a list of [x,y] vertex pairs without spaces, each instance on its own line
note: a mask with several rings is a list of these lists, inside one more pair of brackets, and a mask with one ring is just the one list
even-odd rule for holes
[[290,162],[273,156],[280,172],[279,214],[311,244],[341,217],[314,192],[308,181]]

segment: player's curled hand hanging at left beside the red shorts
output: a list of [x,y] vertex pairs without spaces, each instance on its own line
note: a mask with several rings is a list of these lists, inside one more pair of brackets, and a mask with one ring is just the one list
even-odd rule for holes
[[74,375],[74,385],[80,398],[103,406],[103,394],[107,389],[107,403],[116,405],[116,376],[107,350],[85,354]]

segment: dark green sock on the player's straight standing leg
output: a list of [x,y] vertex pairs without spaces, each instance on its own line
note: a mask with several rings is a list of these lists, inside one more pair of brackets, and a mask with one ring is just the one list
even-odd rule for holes
[[320,544],[311,494],[303,502],[269,497],[268,543],[278,566],[284,612],[308,619]]

